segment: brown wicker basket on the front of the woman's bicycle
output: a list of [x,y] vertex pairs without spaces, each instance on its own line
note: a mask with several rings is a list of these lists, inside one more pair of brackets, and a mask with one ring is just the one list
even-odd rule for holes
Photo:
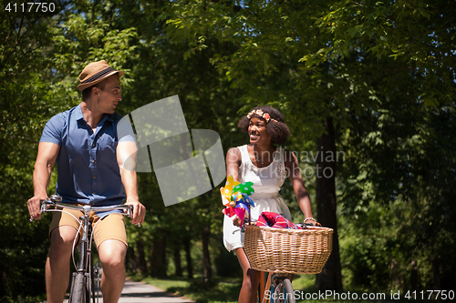
[[252,268],[261,271],[317,274],[331,254],[333,229],[286,229],[245,226],[244,250]]

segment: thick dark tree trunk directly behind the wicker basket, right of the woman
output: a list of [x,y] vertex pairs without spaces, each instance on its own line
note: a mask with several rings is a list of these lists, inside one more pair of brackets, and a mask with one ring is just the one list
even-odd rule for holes
[[331,117],[323,122],[326,133],[316,139],[316,213],[322,227],[334,229],[333,250],[323,271],[316,275],[317,290],[342,291],[336,216],[336,137]]

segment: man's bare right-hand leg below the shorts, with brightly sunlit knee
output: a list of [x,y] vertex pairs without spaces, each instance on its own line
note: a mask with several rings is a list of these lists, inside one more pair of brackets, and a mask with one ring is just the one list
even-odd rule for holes
[[101,292],[104,303],[117,303],[125,284],[125,255],[127,246],[119,240],[105,240],[98,246],[98,256],[103,267]]

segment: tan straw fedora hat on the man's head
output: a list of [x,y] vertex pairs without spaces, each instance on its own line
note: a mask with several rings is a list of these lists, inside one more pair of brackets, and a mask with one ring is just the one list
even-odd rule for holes
[[79,75],[78,89],[82,92],[84,89],[96,85],[98,82],[103,81],[109,76],[119,73],[119,77],[123,76],[123,71],[115,70],[109,66],[105,60],[92,62],[88,64]]

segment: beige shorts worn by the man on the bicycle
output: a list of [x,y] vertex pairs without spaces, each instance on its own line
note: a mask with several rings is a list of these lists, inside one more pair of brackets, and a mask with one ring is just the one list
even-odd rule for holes
[[[81,217],[84,213],[80,210],[64,208],[68,213],[73,214],[75,217]],[[97,247],[105,240],[119,240],[128,246],[127,232],[125,230],[125,219],[121,214],[110,214],[100,219],[94,211],[88,213],[89,220],[92,222],[93,238]],[[80,221],[73,216],[63,213],[61,211],[54,212],[52,222],[49,227],[49,237],[51,232],[57,227],[70,226],[79,230]],[[97,224],[97,226],[95,226]],[[81,228],[82,229],[82,228]],[[79,237],[82,235],[82,230],[79,230]]]

